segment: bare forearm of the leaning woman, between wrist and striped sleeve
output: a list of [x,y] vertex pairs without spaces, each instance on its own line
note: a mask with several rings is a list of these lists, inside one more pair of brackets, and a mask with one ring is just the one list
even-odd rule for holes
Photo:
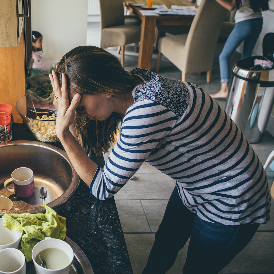
[[85,153],[84,149],[70,131],[65,131],[58,136],[75,171],[80,178],[90,187],[98,165]]

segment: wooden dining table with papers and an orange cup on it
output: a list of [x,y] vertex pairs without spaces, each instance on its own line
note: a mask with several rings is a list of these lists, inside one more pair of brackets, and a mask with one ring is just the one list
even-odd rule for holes
[[[153,45],[155,40],[156,26],[164,25],[188,25],[190,26],[194,16],[193,15],[142,15],[140,10],[142,7],[135,6],[136,3],[146,4],[146,0],[124,0],[124,5],[138,18],[141,19],[141,37],[139,45],[138,68],[145,68],[151,70]],[[171,8],[171,5],[178,6],[195,6],[196,4],[187,0],[155,0],[155,5],[166,5]],[[146,6],[144,6],[146,7]]]

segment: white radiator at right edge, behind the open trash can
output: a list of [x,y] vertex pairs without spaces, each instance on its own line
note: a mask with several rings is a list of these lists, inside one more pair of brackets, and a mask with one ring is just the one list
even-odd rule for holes
[[274,12],[271,10],[266,10],[262,12],[263,25],[260,36],[255,44],[252,55],[262,55],[262,40],[264,36],[269,32],[274,32]]

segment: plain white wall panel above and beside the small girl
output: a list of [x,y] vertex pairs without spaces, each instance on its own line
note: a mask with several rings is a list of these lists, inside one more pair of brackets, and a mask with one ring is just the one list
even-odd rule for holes
[[88,0],[32,0],[32,30],[43,35],[43,52],[59,61],[72,48],[86,45]]

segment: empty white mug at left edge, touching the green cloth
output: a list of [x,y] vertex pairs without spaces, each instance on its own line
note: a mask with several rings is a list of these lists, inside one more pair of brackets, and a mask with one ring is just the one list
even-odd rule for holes
[[4,227],[3,218],[0,219],[0,250],[6,248],[19,248],[22,232],[16,230],[11,231]]

